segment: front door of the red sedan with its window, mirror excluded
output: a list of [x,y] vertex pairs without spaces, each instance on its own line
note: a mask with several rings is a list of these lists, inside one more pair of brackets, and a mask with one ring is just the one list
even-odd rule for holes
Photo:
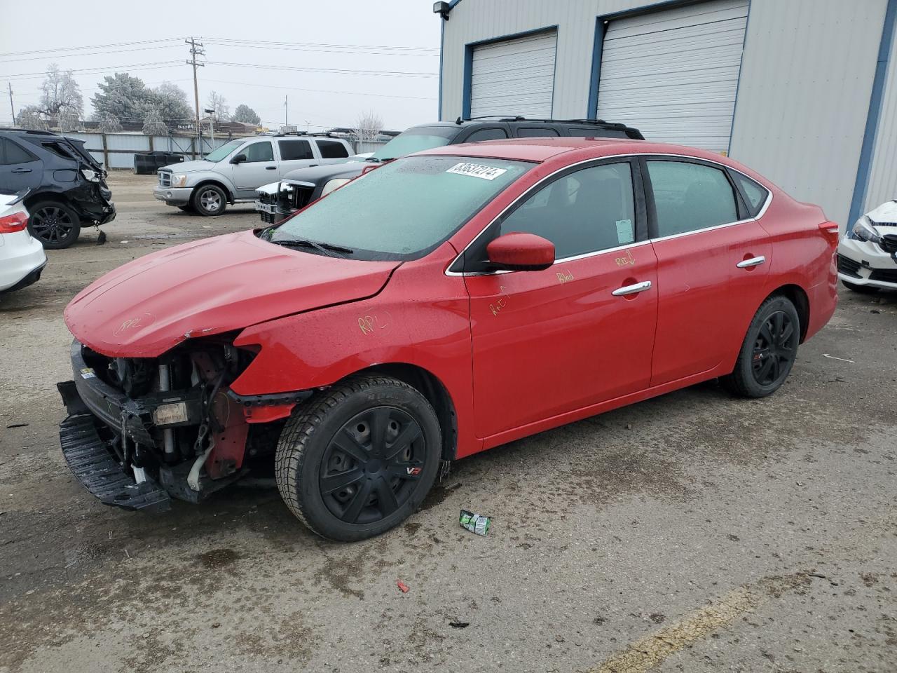
[[[648,387],[657,263],[638,173],[619,158],[565,170],[466,249],[478,436]],[[553,267],[478,271],[486,243],[509,232],[551,240]]]

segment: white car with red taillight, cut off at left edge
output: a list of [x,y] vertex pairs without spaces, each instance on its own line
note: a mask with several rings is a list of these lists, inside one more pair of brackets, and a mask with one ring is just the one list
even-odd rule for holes
[[22,205],[27,193],[0,193],[0,294],[38,281],[47,264],[44,247],[28,232],[28,211]]

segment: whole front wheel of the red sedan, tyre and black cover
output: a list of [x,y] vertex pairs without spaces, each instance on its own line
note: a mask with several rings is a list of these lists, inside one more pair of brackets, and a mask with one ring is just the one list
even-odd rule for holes
[[293,411],[277,444],[277,488],[319,536],[371,538],[417,510],[441,446],[436,413],[418,390],[356,376]]

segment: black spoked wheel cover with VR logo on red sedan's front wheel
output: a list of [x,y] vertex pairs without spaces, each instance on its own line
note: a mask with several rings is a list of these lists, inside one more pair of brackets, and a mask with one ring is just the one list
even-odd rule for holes
[[421,478],[421,426],[393,406],[353,416],[324,451],[318,484],[327,509],[346,523],[386,519],[405,502]]

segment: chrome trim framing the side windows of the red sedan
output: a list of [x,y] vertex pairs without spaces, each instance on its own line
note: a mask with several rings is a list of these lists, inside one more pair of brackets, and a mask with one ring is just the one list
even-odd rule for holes
[[[606,156],[602,156],[602,157],[595,157],[595,158],[592,158],[592,159],[585,159],[585,160],[583,160],[583,161],[581,161],[581,162],[571,163],[571,164],[568,165],[568,166],[563,166],[562,168],[560,168],[560,169],[558,169],[558,170],[554,170],[553,172],[551,172],[551,173],[549,173],[548,175],[544,176],[544,178],[539,179],[535,184],[533,184],[532,186],[530,186],[530,188],[528,188],[527,191],[525,191],[525,192],[524,192],[523,194],[521,194],[519,197],[517,197],[516,199],[514,199],[513,201],[511,201],[508,205],[506,205],[504,208],[502,208],[502,209],[501,209],[501,213],[495,215],[495,217],[492,218],[492,221],[491,221],[490,223],[486,224],[486,225],[483,227],[483,229],[482,229],[479,233],[477,233],[477,234],[475,235],[475,237],[472,238],[472,239],[467,243],[467,245],[466,245],[463,249],[461,249],[461,251],[457,254],[457,256],[456,256],[454,259],[451,260],[451,262],[448,264],[448,267],[446,267],[445,275],[499,275],[499,274],[517,274],[517,273],[526,273],[526,272],[507,271],[507,270],[482,271],[482,272],[480,272],[480,271],[478,271],[478,272],[464,271],[464,270],[463,270],[464,255],[465,255],[467,249],[469,249],[471,246],[473,246],[474,243],[476,242],[476,240],[478,240],[481,236],[483,236],[483,234],[484,234],[485,232],[488,232],[488,231],[490,230],[490,228],[492,228],[492,225],[493,225],[494,223],[498,222],[498,221],[501,219],[501,217],[502,217],[502,216],[503,216],[503,215],[504,215],[510,208],[512,208],[512,207],[514,207],[514,206],[516,206],[516,205],[518,205],[518,203],[519,203],[521,200],[526,200],[528,197],[532,196],[532,192],[533,192],[534,189],[536,189],[537,187],[539,187],[540,185],[542,185],[545,181],[547,181],[547,180],[549,180],[549,179],[553,179],[556,175],[558,175],[558,173],[561,173],[561,172],[564,171],[564,170],[570,170],[570,169],[577,168],[577,167],[579,167],[579,166],[583,166],[583,165],[585,165],[585,164],[587,164],[587,163],[591,163],[591,162],[603,162],[603,161],[608,160],[608,159],[621,159],[621,158],[626,158],[626,159],[630,159],[630,160],[636,160],[636,161],[635,161],[636,163],[641,163],[642,161],[644,161],[644,159],[645,159],[646,157],[670,157],[670,158],[673,158],[673,159],[676,159],[676,160],[683,160],[683,159],[684,159],[684,160],[694,160],[694,161],[697,161],[697,162],[705,162],[705,163],[709,164],[710,166],[712,166],[713,168],[720,168],[720,169],[726,171],[727,173],[728,173],[728,171],[730,171],[730,170],[733,171],[733,172],[736,172],[736,173],[740,173],[741,175],[744,175],[745,178],[750,178],[750,179],[752,179],[754,182],[756,182],[757,184],[761,185],[762,188],[765,188],[765,189],[766,189],[766,191],[767,191],[766,203],[763,204],[762,208],[758,211],[758,213],[757,213],[754,217],[748,217],[748,218],[745,219],[745,220],[737,220],[736,222],[717,224],[717,225],[715,225],[715,226],[707,227],[707,228],[705,228],[705,229],[698,229],[698,230],[695,230],[695,231],[693,231],[693,232],[676,233],[676,234],[673,234],[673,235],[671,235],[671,236],[666,236],[666,237],[664,237],[664,238],[657,238],[657,239],[648,238],[648,239],[646,239],[646,240],[639,240],[639,232],[640,232],[640,229],[639,229],[639,225],[638,225],[638,223],[637,223],[637,224],[636,224],[636,241],[635,241],[635,243],[632,243],[631,245],[620,246],[620,247],[618,247],[618,248],[612,248],[612,249],[606,249],[606,250],[598,250],[598,251],[596,251],[596,252],[589,252],[589,253],[586,253],[585,255],[578,256],[577,259],[581,259],[581,258],[585,258],[585,257],[593,257],[593,256],[595,256],[595,255],[603,255],[603,254],[605,254],[606,252],[615,252],[615,251],[617,251],[617,250],[621,250],[621,249],[635,248],[635,247],[637,247],[637,246],[644,245],[645,243],[654,243],[654,242],[657,242],[657,241],[660,241],[660,240],[675,239],[675,238],[679,238],[679,237],[681,237],[681,236],[691,236],[692,234],[695,234],[695,233],[710,232],[710,231],[712,231],[712,230],[714,230],[714,229],[722,229],[723,227],[731,227],[731,226],[734,226],[734,225],[736,225],[736,224],[743,224],[743,223],[748,223],[748,222],[754,222],[754,221],[756,221],[756,220],[759,220],[764,214],[766,214],[767,209],[770,207],[770,204],[772,203],[772,190],[771,190],[771,188],[769,188],[769,187],[767,187],[766,185],[764,185],[760,180],[755,179],[755,178],[751,178],[751,176],[749,176],[749,175],[748,175],[747,173],[745,173],[745,171],[743,171],[743,170],[738,170],[738,169],[733,168],[733,167],[731,167],[731,166],[727,166],[725,163],[714,162],[714,161],[711,160],[711,159],[703,159],[703,158],[700,158],[700,157],[693,157],[693,156],[689,156],[688,154],[657,153],[657,152],[632,152],[632,153],[623,153],[623,154],[608,154],[608,155],[606,155]],[[648,171],[647,171],[647,167],[645,167],[644,169],[640,170],[640,174],[641,174],[641,186],[642,186],[642,189],[641,189],[641,190],[638,190],[638,189],[636,190],[637,193],[639,193],[639,192],[641,193],[641,197],[646,201],[646,205],[647,205],[648,195],[645,193],[644,183],[645,183],[645,179],[646,179],[646,177],[645,177],[645,173],[647,173],[647,172],[648,172]],[[728,176],[728,175],[727,175],[727,178],[728,178],[730,181],[733,181],[733,180],[731,179],[731,177]],[[634,174],[634,172],[633,172],[633,176],[632,176],[632,182],[633,182],[633,188],[634,188],[634,187],[635,187],[635,174]],[[740,197],[740,192],[737,192],[737,193],[739,194],[739,197]],[[651,194],[651,200],[653,201],[653,192],[652,192],[652,194]],[[636,207],[638,208],[638,205],[637,205]],[[565,259],[555,259],[555,260],[554,260],[554,264],[559,264],[559,263],[561,263],[561,262],[569,262],[569,261],[572,261],[572,259],[566,259],[566,258],[565,258]],[[453,271],[452,268],[455,267],[455,266],[456,266],[457,264],[459,264],[459,263],[462,265],[462,270],[461,270],[461,271]]]

